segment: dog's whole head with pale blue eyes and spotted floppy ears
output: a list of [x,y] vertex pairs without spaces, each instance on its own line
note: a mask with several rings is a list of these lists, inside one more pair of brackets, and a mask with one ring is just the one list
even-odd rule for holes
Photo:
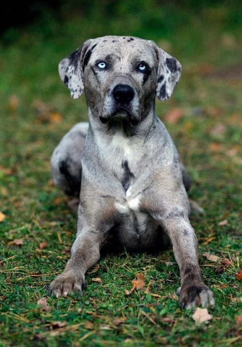
[[73,98],[83,90],[92,114],[137,123],[148,115],[155,95],[171,96],[181,75],[180,63],[153,41],[136,37],[90,39],[59,64]]

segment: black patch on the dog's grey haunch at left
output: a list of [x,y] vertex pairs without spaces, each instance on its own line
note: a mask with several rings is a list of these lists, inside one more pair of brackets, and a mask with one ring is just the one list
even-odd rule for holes
[[68,188],[65,190],[67,195],[78,196],[81,190],[81,172],[79,177],[72,176],[69,172],[68,161],[62,160],[59,164],[59,170],[64,175]]

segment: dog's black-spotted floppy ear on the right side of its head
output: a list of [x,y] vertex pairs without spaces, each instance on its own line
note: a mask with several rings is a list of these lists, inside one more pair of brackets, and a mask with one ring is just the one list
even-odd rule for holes
[[167,100],[173,93],[181,76],[181,64],[154,43],[158,60],[156,96],[159,100]]

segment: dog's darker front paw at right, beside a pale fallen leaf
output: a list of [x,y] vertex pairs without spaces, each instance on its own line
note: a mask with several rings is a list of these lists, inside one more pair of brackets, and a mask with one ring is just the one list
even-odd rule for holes
[[215,303],[213,292],[204,283],[182,286],[178,288],[177,294],[181,309],[189,309],[198,305],[214,306]]

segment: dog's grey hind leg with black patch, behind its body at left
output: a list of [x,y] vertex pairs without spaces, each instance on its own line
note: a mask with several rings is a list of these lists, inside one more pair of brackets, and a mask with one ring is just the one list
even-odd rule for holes
[[82,176],[82,153],[88,130],[87,122],[77,123],[64,135],[51,157],[54,183],[68,196],[68,206],[76,213]]

